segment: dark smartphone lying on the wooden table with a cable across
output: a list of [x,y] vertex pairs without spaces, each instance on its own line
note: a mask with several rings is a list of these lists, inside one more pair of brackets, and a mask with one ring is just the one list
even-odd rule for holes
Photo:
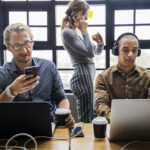
[[76,135],[75,137],[84,137],[84,133],[82,131],[81,127],[75,127],[75,129],[73,129],[74,127],[69,127],[69,135],[74,136],[77,133],[80,133],[78,135]]

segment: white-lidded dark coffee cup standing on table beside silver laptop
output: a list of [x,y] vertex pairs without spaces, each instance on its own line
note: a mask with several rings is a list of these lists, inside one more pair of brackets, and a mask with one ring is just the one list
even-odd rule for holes
[[105,117],[96,117],[92,120],[94,136],[98,140],[103,140],[106,137],[107,120]]

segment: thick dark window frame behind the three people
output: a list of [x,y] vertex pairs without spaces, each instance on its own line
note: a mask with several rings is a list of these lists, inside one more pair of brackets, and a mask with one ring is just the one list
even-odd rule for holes
[[[52,50],[52,61],[57,66],[57,50],[64,50],[63,46],[56,45],[56,14],[55,7],[58,5],[67,5],[69,1],[22,1],[22,2],[8,2],[0,0],[0,65],[4,63],[3,51],[6,47],[3,45],[3,31],[8,25],[8,12],[9,11],[47,11],[48,19],[48,41],[36,41],[34,49],[36,50]],[[105,70],[110,67],[110,50],[114,43],[114,12],[115,10],[128,10],[128,9],[150,9],[149,0],[87,0],[90,5],[104,4],[106,5],[106,43],[104,52],[106,53],[106,67],[97,68],[96,70]],[[135,18],[134,18],[135,21]],[[135,22],[134,22],[135,23]],[[29,24],[29,22],[27,22]],[[99,25],[89,25],[99,26]],[[135,28],[135,24],[134,24]],[[135,32],[135,31],[134,31]],[[52,36],[51,36],[52,35]],[[150,49],[150,40],[140,40],[141,48]],[[148,68],[150,69],[150,68]],[[58,68],[60,71],[70,71],[72,68]],[[70,89],[66,89],[66,92],[71,92]]]

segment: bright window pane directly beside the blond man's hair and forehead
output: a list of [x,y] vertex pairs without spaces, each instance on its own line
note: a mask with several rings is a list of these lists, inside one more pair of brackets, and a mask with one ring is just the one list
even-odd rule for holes
[[31,27],[35,41],[47,41],[47,28]]

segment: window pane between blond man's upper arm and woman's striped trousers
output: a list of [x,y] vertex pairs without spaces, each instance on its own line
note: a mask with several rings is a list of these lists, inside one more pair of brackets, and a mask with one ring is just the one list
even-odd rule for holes
[[59,74],[60,74],[60,77],[62,79],[64,89],[70,89],[70,80],[71,80],[71,77],[73,75],[73,71],[68,71],[68,70],[60,71],[59,70]]

